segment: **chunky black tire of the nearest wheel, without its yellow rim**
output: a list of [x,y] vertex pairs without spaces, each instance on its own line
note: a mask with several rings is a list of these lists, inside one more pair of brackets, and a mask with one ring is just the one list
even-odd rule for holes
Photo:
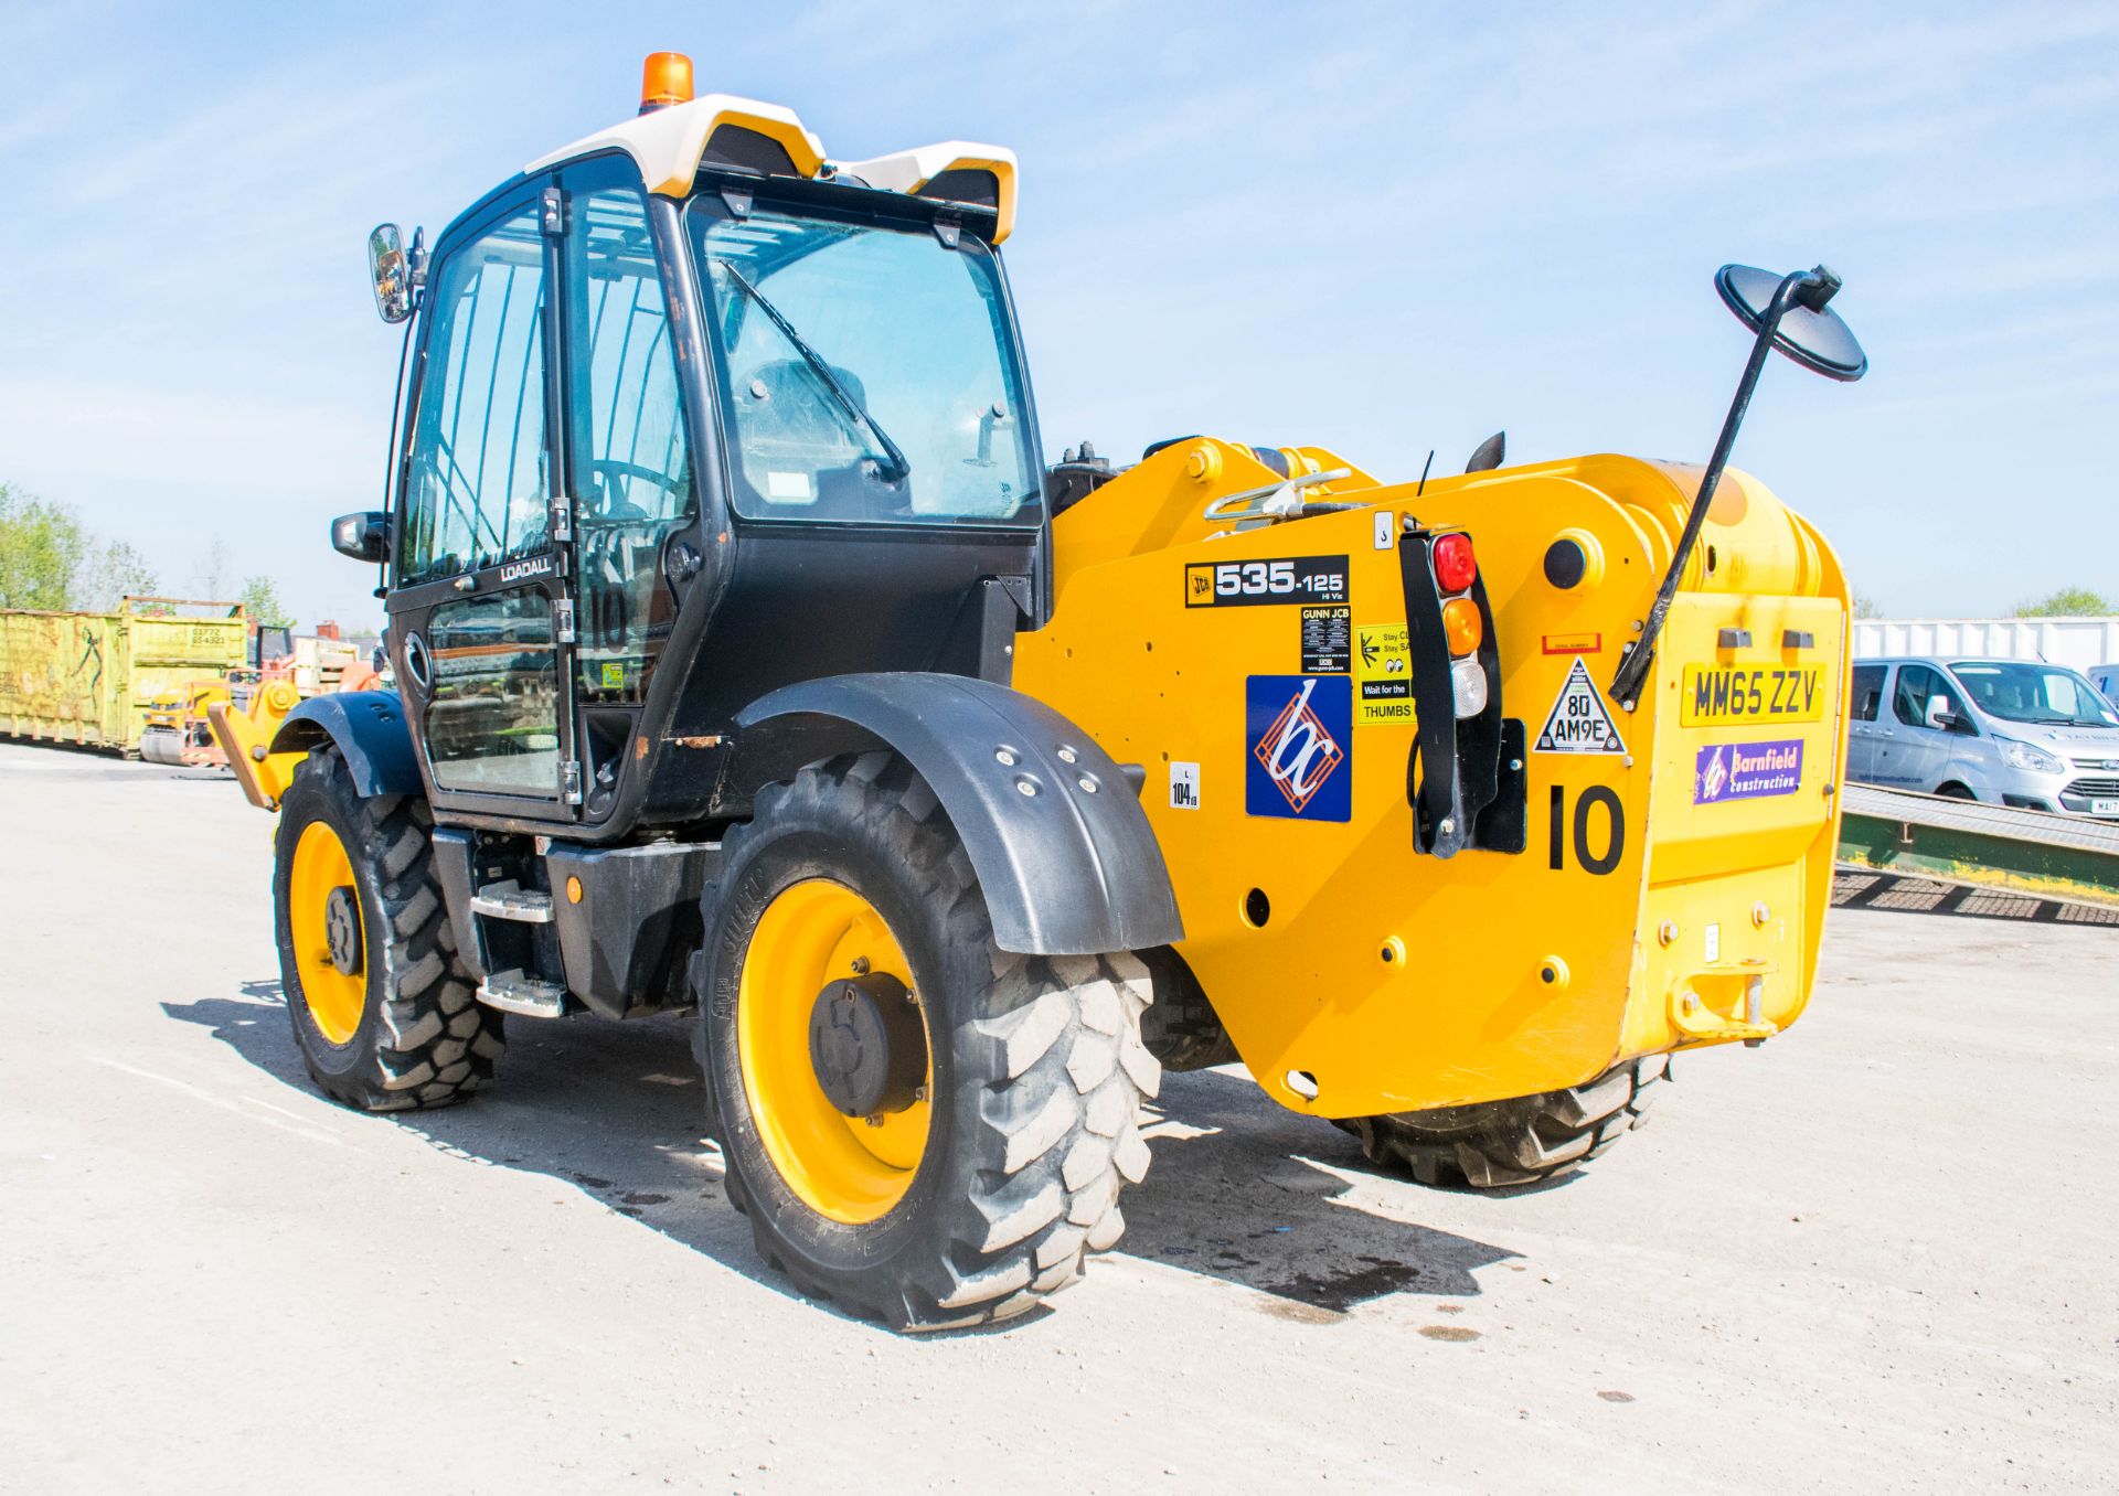
[[[903,949],[934,1076],[926,1151],[867,1225],[814,1210],[759,1138],[737,1053],[750,939],[786,888],[824,877],[869,901]],[[971,858],[932,790],[886,752],[759,792],[723,839],[693,966],[708,1127],[759,1254],[805,1293],[901,1331],[1013,1318],[1072,1284],[1125,1229],[1119,1191],[1148,1146],[1140,1100],[1161,1068],[1140,1043],[1146,968],[1129,954],[1002,951]]]

